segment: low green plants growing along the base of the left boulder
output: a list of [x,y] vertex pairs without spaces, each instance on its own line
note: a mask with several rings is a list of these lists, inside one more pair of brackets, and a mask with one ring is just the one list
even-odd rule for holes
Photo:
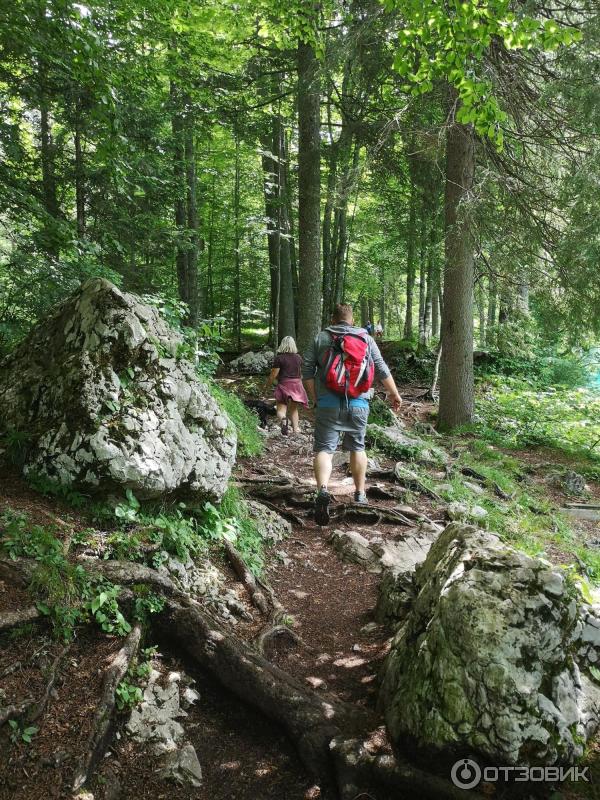
[[[50,486],[45,486],[50,493]],[[146,623],[164,605],[161,596],[140,584],[123,608],[122,587],[94,576],[74,559],[81,550],[99,558],[144,563],[159,568],[170,556],[182,562],[209,557],[224,539],[234,544],[249,569],[264,569],[263,539],[243,495],[229,488],[219,505],[143,505],[128,491],[113,505],[95,505],[90,526],[75,532],[67,549],[53,526],[33,524],[27,515],[0,516],[0,553],[10,559],[33,559],[29,590],[55,635],[70,640],[80,625],[96,623],[108,634],[125,636],[132,622]],[[99,526],[99,527],[96,527]],[[107,530],[108,529],[108,530]]]

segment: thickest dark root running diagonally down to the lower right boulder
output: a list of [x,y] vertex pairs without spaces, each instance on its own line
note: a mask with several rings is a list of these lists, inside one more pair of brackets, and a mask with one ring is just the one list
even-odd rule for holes
[[377,728],[369,712],[306,689],[203,609],[169,600],[155,626],[222,686],[284,728],[325,797],[349,800],[371,787],[381,789],[386,797],[474,797],[390,754],[373,755],[363,741]]

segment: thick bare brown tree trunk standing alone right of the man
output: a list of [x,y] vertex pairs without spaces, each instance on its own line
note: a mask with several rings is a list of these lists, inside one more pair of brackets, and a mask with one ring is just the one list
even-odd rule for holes
[[[453,90],[452,95],[457,103]],[[446,257],[438,412],[442,430],[468,423],[473,416],[474,248],[465,203],[474,170],[473,132],[469,126],[452,122],[446,132]]]

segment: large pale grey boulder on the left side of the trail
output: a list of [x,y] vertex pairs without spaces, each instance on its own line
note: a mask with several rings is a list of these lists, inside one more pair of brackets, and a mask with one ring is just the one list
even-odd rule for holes
[[236,437],[181,344],[156,309],[87,281],[0,363],[0,437],[25,434],[24,471],[63,484],[218,499]]

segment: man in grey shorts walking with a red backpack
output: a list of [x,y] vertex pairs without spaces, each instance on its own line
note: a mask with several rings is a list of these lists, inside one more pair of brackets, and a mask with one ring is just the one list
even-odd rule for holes
[[318,493],[315,520],[329,522],[331,496],[327,490],[333,453],[340,434],[342,447],[350,452],[354,478],[354,501],[366,504],[367,454],[365,433],[373,378],[378,378],[393,409],[402,398],[375,341],[364,328],[354,327],[352,307],[337,305],[331,325],[318,334],[304,354],[302,377],[311,401],[316,405],[314,471]]

